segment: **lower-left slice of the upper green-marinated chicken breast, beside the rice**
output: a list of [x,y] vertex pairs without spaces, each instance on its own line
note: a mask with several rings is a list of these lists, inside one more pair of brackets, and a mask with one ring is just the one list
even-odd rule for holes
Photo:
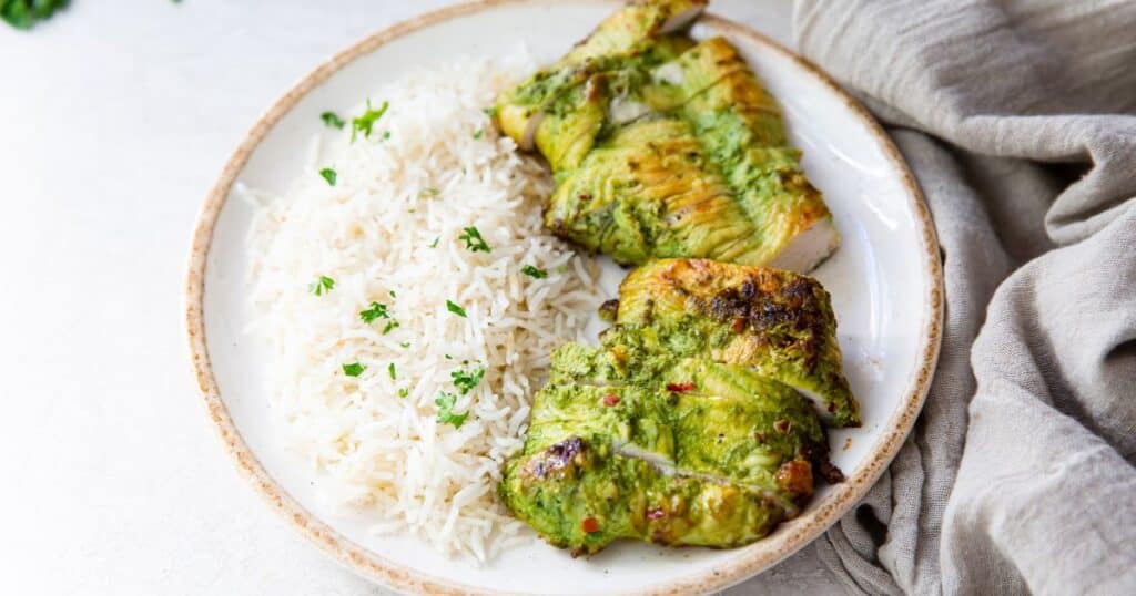
[[696,254],[759,262],[759,232],[682,120],[625,126],[561,176],[544,212],[557,235],[634,265]]

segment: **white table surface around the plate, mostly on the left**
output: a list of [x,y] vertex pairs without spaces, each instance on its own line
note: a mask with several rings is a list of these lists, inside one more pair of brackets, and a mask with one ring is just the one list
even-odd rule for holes
[[[267,106],[445,1],[76,0],[0,25],[0,594],[383,594],[237,477],[186,360],[198,208]],[[790,7],[716,0],[787,42]],[[737,594],[833,593],[807,548]]]

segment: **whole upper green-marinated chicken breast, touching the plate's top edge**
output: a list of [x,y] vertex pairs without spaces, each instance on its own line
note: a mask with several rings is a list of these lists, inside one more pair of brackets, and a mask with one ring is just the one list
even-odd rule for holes
[[710,258],[808,271],[838,244],[780,110],[704,2],[642,0],[502,93],[502,131],[556,176],[545,225],[625,265]]

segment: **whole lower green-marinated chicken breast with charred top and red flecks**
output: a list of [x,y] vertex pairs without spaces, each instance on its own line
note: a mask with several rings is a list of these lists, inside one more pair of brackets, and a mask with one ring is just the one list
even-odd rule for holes
[[[648,263],[596,347],[552,354],[500,495],[550,543],[738,546],[799,513],[828,426],[859,423],[815,280],[708,260]],[[813,403],[816,402],[816,403]]]

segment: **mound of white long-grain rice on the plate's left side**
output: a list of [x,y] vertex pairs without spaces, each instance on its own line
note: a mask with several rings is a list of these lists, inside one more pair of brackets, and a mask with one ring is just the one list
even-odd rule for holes
[[[496,501],[501,463],[520,446],[552,349],[578,339],[600,301],[591,260],[542,229],[548,175],[483,111],[534,68],[528,58],[467,60],[407,76],[373,95],[390,110],[369,137],[350,141],[362,106],[341,114],[344,132],[314,143],[289,192],[245,193],[260,205],[251,330],[270,354],[286,438],[319,472],[321,495],[377,515],[376,531],[481,561],[529,536]],[[335,186],[319,176],[325,167]],[[467,250],[468,226],[491,252]],[[549,276],[524,275],[525,265]],[[319,276],[334,287],[317,296],[309,284]],[[373,302],[399,327],[384,335],[391,319],[365,324]],[[343,366],[354,362],[366,369],[353,378]],[[484,379],[461,395],[451,372],[478,367]],[[440,392],[469,412],[460,428],[437,420]]]

